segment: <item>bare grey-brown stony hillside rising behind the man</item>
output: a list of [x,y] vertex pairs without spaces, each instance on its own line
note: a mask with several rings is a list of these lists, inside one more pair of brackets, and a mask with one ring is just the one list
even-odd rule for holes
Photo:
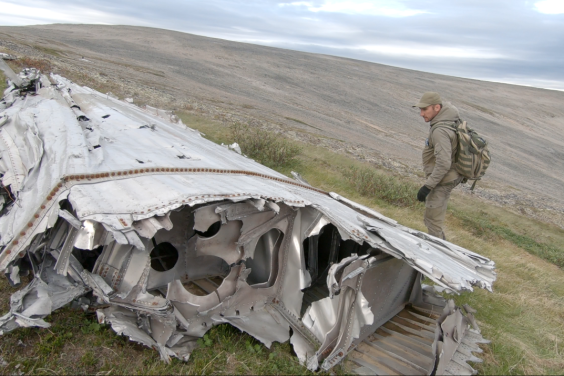
[[421,176],[428,130],[411,105],[437,91],[490,142],[476,194],[564,227],[564,92],[132,26],[0,27],[0,52],[47,57],[137,103],[284,132],[411,177]]

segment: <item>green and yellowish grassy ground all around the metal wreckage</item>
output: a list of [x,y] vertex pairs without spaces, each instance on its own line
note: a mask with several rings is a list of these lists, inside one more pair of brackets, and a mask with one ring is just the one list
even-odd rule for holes
[[[80,80],[76,79],[78,83]],[[92,82],[91,87],[97,88]],[[98,89],[98,88],[97,88]],[[414,200],[421,182],[376,170],[328,149],[283,138],[260,142],[256,129],[229,128],[194,113],[178,113],[185,124],[215,142],[237,140],[244,152],[290,175],[299,172],[312,185],[334,191],[419,230],[423,205]],[[268,137],[267,137],[268,138]],[[277,153],[272,153],[271,149]],[[282,150],[283,149],[283,150]],[[497,263],[494,292],[457,296],[457,304],[478,310],[485,338],[481,374],[560,374],[564,369],[564,231],[493,207],[458,190],[447,214],[447,238]],[[0,310],[9,309],[15,291],[0,280]],[[71,308],[46,319],[49,329],[19,329],[0,341],[2,373],[26,374],[304,374],[288,343],[266,349],[228,325],[201,339],[188,363],[166,365],[158,353],[117,336],[95,316]],[[345,373],[340,367],[336,373]]]

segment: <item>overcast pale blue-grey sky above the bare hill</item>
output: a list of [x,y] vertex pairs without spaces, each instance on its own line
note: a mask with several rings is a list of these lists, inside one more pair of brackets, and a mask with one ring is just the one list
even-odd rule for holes
[[564,90],[564,0],[0,0],[0,25],[151,26]]

